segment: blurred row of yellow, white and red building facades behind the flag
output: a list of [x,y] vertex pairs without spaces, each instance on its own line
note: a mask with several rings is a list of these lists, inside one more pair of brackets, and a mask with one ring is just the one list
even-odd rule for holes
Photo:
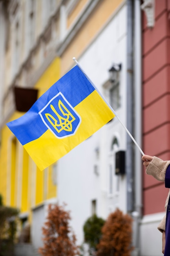
[[65,202],[77,245],[88,218],[118,208],[133,218],[131,254],[161,256],[168,190],[116,117],[44,171],[6,126],[73,57],[144,153],[170,159],[170,0],[0,0],[0,194],[19,209],[15,255],[21,242],[38,255],[48,205]]

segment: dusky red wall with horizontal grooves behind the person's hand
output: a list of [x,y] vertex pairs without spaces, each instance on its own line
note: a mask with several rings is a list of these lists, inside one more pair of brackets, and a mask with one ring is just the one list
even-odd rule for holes
[[[142,25],[143,150],[170,159],[170,0],[155,0],[155,26]],[[163,182],[143,177],[144,215],[164,211]]]

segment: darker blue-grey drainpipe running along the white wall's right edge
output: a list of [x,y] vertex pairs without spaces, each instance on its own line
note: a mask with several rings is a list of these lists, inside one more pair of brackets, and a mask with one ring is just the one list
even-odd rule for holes
[[[127,128],[133,135],[133,0],[127,0]],[[127,179],[127,212],[134,211],[134,160],[132,139],[127,135],[126,179]]]

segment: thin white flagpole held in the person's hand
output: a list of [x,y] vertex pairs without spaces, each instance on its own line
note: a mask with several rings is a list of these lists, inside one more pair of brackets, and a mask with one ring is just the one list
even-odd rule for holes
[[124,129],[126,130],[126,132],[128,133],[128,135],[130,136],[130,138],[132,139],[132,141],[135,143],[135,145],[137,146],[137,148],[139,149],[139,151],[141,152],[142,155],[144,155],[144,152],[141,150],[141,148],[139,147],[139,145],[137,144],[137,142],[135,141],[134,137],[131,135],[131,133],[128,131],[128,129],[126,128],[126,126],[122,123],[122,121],[119,119],[118,115],[116,114],[115,110],[113,110],[113,108],[110,106],[110,104],[106,101],[106,99],[103,97],[103,95],[99,92],[99,90],[97,89],[97,87],[95,86],[95,84],[91,81],[91,79],[87,76],[87,74],[84,72],[84,70],[82,69],[82,67],[79,65],[78,61],[76,60],[75,57],[73,57],[73,61],[75,61],[75,63],[77,64],[77,66],[82,70],[82,72],[84,73],[84,75],[86,76],[86,78],[91,82],[91,84],[94,86],[95,90],[99,93],[99,95],[102,97],[102,99],[106,102],[106,104],[108,105],[108,107],[112,110],[112,112],[114,113],[114,115],[117,117],[117,119],[119,120],[119,122],[121,123],[121,125],[124,127]]

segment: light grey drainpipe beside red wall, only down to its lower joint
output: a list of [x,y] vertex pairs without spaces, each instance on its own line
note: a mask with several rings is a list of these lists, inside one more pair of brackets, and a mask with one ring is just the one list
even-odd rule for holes
[[[135,83],[135,139],[141,147],[142,138],[142,91],[141,91],[141,8],[140,0],[135,0],[135,36],[134,36],[134,83]],[[141,216],[142,168],[141,153],[135,148],[135,209]]]

